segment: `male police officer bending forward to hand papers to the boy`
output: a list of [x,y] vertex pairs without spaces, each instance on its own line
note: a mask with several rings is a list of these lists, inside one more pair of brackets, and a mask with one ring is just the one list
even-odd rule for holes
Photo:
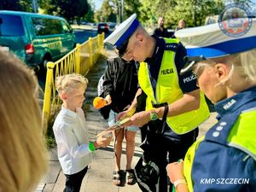
[[[104,42],[125,60],[140,62],[138,81],[147,95],[146,110],[133,114],[125,126],[148,123],[143,160],[136,166],[137,182],[143,191],[166,192],[167,152],[170,162],[182,158],[209,111],[195,75],[179,75],[186,55],[183,45],[177,39],[150,36],[136,17],[131,15]],[[119,118],[134,108],[136,102]]]

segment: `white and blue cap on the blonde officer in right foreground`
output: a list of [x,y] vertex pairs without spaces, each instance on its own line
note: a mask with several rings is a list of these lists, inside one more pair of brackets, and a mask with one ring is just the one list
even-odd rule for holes
[[[231,20],[226,20],[229,25]],[[247,32],[239,37],[234,37],[225,31],[221,23],[208,26],[186,28],[175,32],[175,37],[187,49],[185,57],[187,64],[181,70],[181,74],[187,73],[197,61],[232,55],[256,48],[256,20],[244,23]],[[227,27],[227,26],[226,26]],[[237,31],[238,32],[238,31]]]

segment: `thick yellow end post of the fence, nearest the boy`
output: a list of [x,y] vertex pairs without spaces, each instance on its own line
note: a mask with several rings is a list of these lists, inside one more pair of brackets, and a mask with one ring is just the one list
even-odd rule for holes
[[47,63],[47,73],[45,80],[45,89],[44,89],[44,106],[43,106],[43,133],[44,135],[47,133],[48,128],[48,120],[50,113],[50,98],[51,98],[51,90],[53,84],[53,71],[55,68],[54,62]]

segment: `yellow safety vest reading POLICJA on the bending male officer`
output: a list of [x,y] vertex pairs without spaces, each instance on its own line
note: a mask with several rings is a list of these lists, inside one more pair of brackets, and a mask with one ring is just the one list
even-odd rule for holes
[[[173,38],[165,38],[165,40],[166,43],[169,44],[178,43],[178,40]],[[141,88],[148,96],[146,110],[153,108],[152,102],[155,104],[163,102],[171,104],[183,97],[183,92],[178,84],[178,75],[174,58],[174,51],[165,50],[156,84],[156,96],[154,96],[154,90],[150,82],[148,64],[145,62],[140,63],[138,81]],[[201,92],[200,108],[177,116],[168,117],[166,123],[175,133],[184,134],[194,130],[198,125],[201,125],[201,123],[209,117],[209,114],[210,112],[207,107],[207,102]]]

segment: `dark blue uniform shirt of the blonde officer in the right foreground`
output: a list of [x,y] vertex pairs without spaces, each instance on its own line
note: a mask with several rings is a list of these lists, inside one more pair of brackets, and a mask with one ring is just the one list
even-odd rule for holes
[[[256,191],[256,154],[227,142],[239,115],[248,109],[256,110],[256,87],[218,102],[215,108],[218,124],[207,132],[195,152],[192,167],[194,191]],[[256,125],[253,124],[251,129],[256,129]]]

